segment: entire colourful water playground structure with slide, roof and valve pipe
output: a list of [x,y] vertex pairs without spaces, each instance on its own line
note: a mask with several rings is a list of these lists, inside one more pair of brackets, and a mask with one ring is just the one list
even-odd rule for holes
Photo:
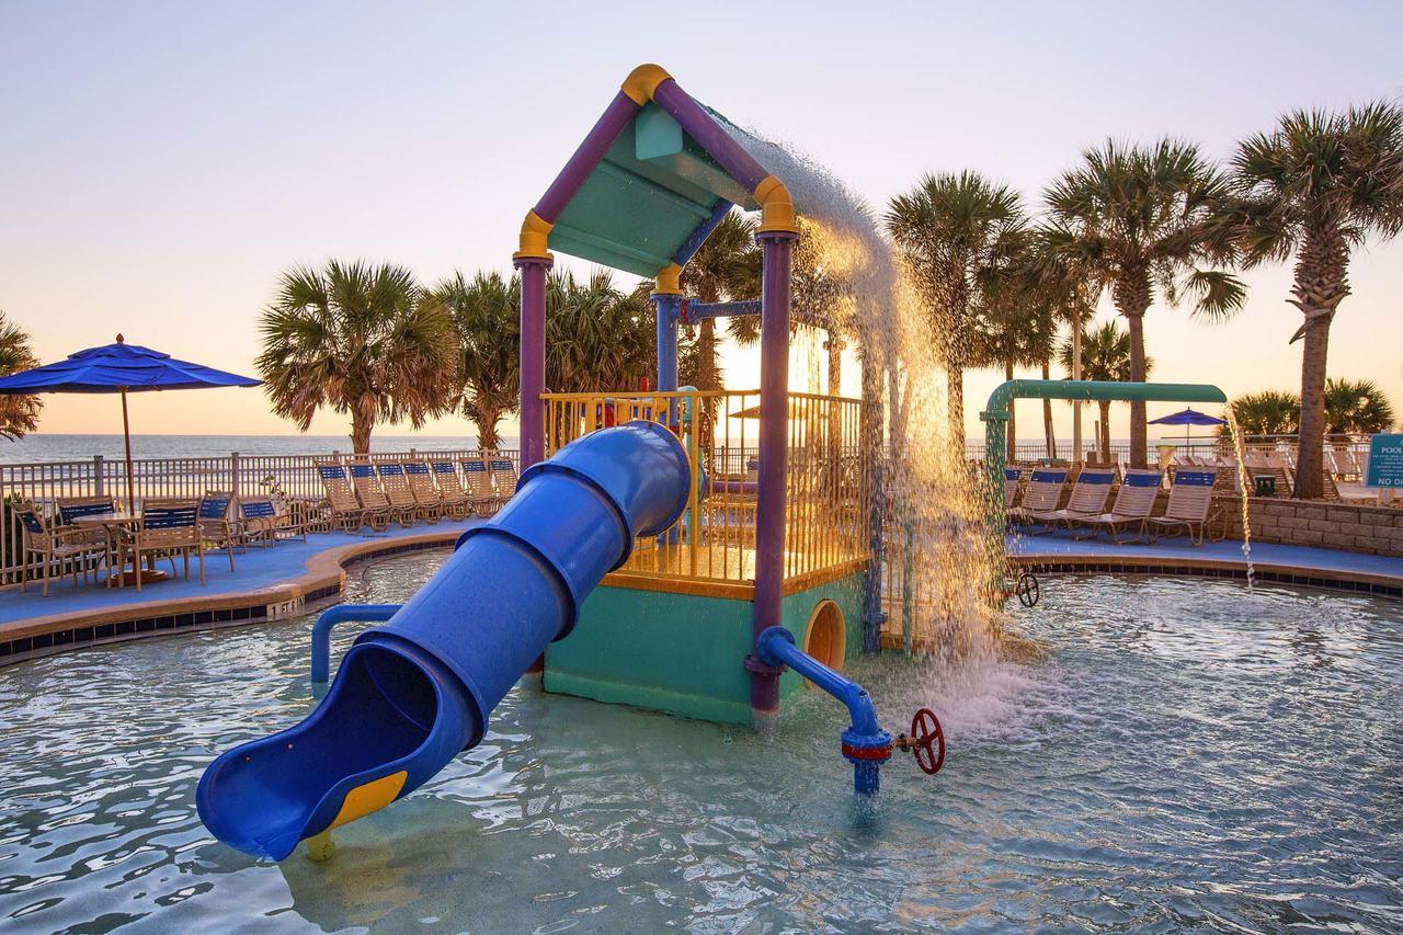
[[[759,300],[685,303],[683,267],[737,205],[762,212]],[[839,748],[859,792],[877,790],[894,750],[940,768],[934,715],[894,738],[840,674],[880,626],[870,446],[860,400],[788,390],[797,239],[786,185],[666,72],[636,69],[526,215],[513,254],[515,497],[403,606],[340,606],[318,623],[324,678],[333,623],[383,621],[302,723],[209,765],[196,803],[216,837],[282,859],[383,809],[476,745],[542,657],[547,692],[723,723],[774,716],[808,679],[849,709]],[[551,250],[655,281],[655,390],[546,392]],[[746,313],[760,317],[759,390],[679,389],[683,316]]]

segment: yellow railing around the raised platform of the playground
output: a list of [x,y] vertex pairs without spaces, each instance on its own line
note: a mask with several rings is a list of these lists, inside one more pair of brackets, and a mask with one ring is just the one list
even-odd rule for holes
[[[759,390],[546,393],[546,452],[631,420],[678,432],[693,465],[687,507],[659,536],[640,538],[620,574],[749,583],[755,578]],[[868,460],[856,399],[788,394],[784,577],[797,580],[867,555]],[[700,465],[703,470],[696,470]]]

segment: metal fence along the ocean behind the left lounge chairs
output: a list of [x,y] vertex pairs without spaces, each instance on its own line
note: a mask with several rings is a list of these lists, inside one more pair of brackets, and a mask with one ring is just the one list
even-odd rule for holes
[[[375,452],[370,460],[422,460],[492,455],[509,458],[521,466],[519,451],[480,452],[476,448],[452,451]],[[316,455],[240,455],[217,458],[143,458],[132,462],[132,498],[202,497],[208,490],[227,490],[239,496],[281,493],[289,500],[320,501],[325,491],[316,462],[331,452]],[[111,497],[126,501],[126,462],[95,455],[84,460],[55,460],[0,465],[0,503],[6,504],[0,521],[0,585],[14,584],[25,573],[22,538],[8,504],[29,501],[52,514],[63,497]]]

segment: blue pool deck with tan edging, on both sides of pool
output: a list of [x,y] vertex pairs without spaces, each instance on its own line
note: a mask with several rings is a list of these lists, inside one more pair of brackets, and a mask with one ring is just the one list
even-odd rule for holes
[[[348,563],[445,548],[476,522],[480,519],[445,519],[383,533],[317,533],[307,542],[237,553],[234,573],[223,553],[213,553],[205,556],[206,585],[198,577],[173,577],[137,594],[132,587],[112,590],[56,578],[48,598],[32,584],[28,592],[6,588],[0,591],[0,665],[80,646],[304,614],[341,599]],[[1115,545],[1065,533],[1019,535],[1009,538],[1007,552],[1014,564],[1047,573],[1247,576],[1240,542]],[[1258,581],[1403,598],[1403,557],[1273,543],[1253,545],[1251,557]]]

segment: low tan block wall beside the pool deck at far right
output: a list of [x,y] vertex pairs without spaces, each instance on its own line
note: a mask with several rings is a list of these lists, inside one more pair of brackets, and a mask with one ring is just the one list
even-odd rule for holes
[[[1403,556],[1403,510],[1249,497],[1253,542]],[[1228,538],[1242,539],[1242,500],[1223,497]]]

